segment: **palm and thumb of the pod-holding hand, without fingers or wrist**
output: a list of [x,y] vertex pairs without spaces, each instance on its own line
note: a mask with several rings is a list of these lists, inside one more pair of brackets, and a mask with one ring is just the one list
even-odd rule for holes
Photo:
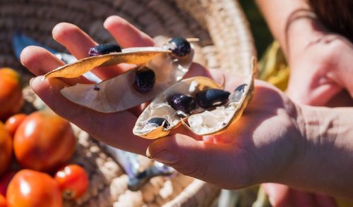
[[[226,89],[233,90],[234,76],[225,77]],[[227,189],[278,181],[301,148],[302,136],[295,124],[299,116],[285,94],[256,81],[255,94],[241,119],[223,134],[203,140],[173,134],[152,142],[147,155],[184,175]]]

